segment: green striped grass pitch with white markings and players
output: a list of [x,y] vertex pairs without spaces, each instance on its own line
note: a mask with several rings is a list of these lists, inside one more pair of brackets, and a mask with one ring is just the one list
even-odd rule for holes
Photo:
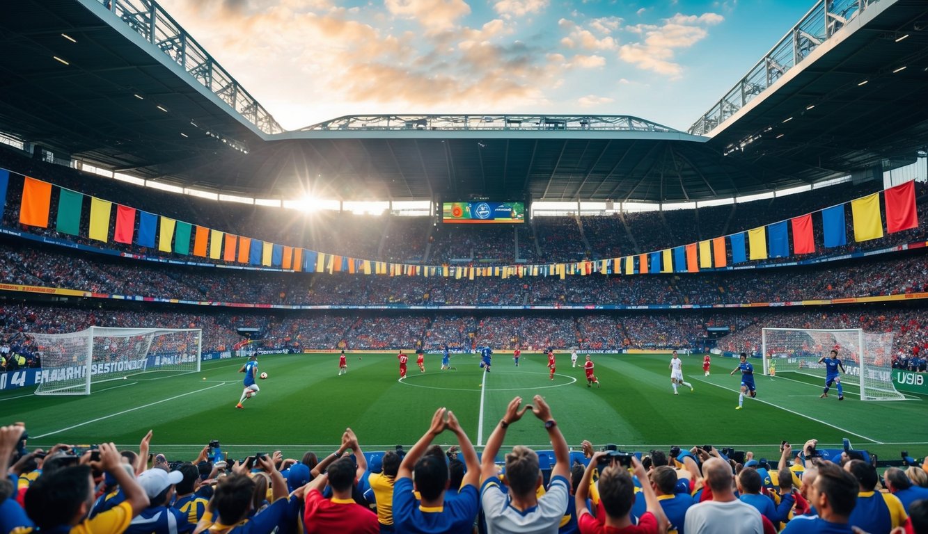
[[[304,451],[334,450],[346,426],[366,451],[409,446],[435,409],[445,406],[480,450],[513,397],[529,402],[542,395],[574,449],[583,439],[616,443],[626,451],[713,444],[777,458],[781,439],[797,446],[816,438],[819,447],[839,447],[848,438],[883,459],[897,458],[901,450],[919,456],[928,450],[922,398],[862,402],[857,389],[848,387],[847,399],[839,402],[818,399],[818,378],[758,375],[757,399],[745,400],[736,411],[739,378],[728,375],[736,362],[727,358],[713,358],[712,375],[704,377],[702,358],[684,356],[684,377],[695,390],[681,387],[675,396],[669,354],[594,355],[601,388],[586,388],[583,369],[571,367],[567,354],[558,356],[553,381],[541,354],[523,355],[519,367],[511,356],[497,354],[487,375],[477,355],[454,355],[457,369],[449,371],[439,370],[439,355],[427,355],[426,373],[412,356],[403,382],[397,380],[394,353],[367,353],[361,360],[349,354],[342,376],[338,354],[261,356],[259,370],[269,378],[259,381],[261,393],[244,410],[235,408],[243,359],[203,362],[197,374],[148,373],[95,384],[90,396],[39,397],[31,388],[16,389],[0,395],[0,420],[26,422],[30,446],[107,439],[135,449],[153,429],[152,451],[169,458],[191,457],[211,439],[220,440],[232,457],[281,449],[299,458]],[[547,449],[543,426],[527,417],[509,428],[504,445]],[[453,439],[443,434],[436,442]]]

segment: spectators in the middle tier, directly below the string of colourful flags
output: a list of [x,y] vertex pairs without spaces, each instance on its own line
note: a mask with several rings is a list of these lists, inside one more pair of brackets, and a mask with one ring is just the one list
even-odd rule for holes
[[162,265],[24,248],[0,241],[0,282],[93,293],[336,306],[724,305],[910,295],[928,291],[922,250],[805,267],[604,276],[445,276],[266,273]]

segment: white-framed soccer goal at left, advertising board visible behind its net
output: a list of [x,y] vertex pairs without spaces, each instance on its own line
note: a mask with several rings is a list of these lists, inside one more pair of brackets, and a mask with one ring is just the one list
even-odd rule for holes
[[199,328],[107,328],[27,334],[42,360],[36,395],[89,395],[92,384],[154,371],[200,371]]

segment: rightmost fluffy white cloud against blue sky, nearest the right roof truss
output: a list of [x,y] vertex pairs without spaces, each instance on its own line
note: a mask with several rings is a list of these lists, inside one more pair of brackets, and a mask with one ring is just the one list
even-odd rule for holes
[[623,44],[619,57],[641,70],[652,70],[671,79],[682,74],[682,67],[674,61],[679,49],[689,48],[708,35],[707,26],[721,23],[725,18],[717,13],[683,15],[677,13],[663,24],[635,24],[626,26],[627,32],[643,37],[643,41]]

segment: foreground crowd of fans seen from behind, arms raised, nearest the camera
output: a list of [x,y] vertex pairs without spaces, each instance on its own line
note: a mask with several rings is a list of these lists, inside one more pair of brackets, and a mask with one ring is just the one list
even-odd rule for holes
[[[524,404],[524,405],[523,405]],[[595,451],[566,437],[540,395],[509,401],[478,456],[457,416],[438,408],[409,451],[362,450],[345,428],[335,452],[281,451],[236,460],[204,447],[196,458],[149,454],[98,439],[96,450],[30,449],[22,423],[0,427],[0,531],[110,534],[536,532],[784,534],[928,532],[928,460],[880,476],[867,451],[825,460],[818,440],[783,442],[779,462],[753,451],[697,445],[638,454]],[[511,443],[509,426],[544,426],[550,451]],[[432,442],[445,431],[457,444]],[[571,451],[568,439],[580,443]],[[401,453],[402,452],[402,453]],[[905,454],[905,453],[904,453]],[[191,455],[192,456],[192,455]]]

